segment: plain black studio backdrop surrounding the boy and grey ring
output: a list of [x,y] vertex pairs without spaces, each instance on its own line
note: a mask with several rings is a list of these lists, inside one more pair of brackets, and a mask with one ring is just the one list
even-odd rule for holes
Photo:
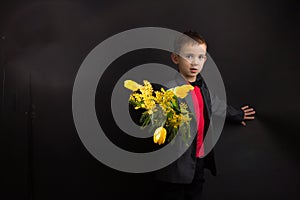
[[[205,199],[299,199],[298,11],[296,1],[283,0],[2,1],[0,198],[141,199],[161,189],[147,174],[97,161],[72,117],[72,87],[87,54],[121,31],[154,26],[201,32],[228,102],[257,111],[246,128],[225,126],[215,147],[219,175],[206,171]],[[99,82],[99,123],[115,143],[124,135],[107,109],[110,89],[149,62],[172,65],[167,52],[139,50],[113,62]]]

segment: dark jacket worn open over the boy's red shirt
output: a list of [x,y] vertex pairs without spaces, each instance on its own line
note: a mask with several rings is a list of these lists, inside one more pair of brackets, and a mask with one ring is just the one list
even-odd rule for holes
[[[182,82],[182,78],[175,79],[173,82],[168,84],[168,87],[179,86],[182,84],[186,84]],[[221,108],[225,107],[223,110],[226,110],[226,118],[233,122],[240,123],[243,120],[243,112],[242,110],[238,110],[233,108],[232,106],[227,106],[224,104],[224,101],[219,100],[217,97],[210,97],[209,90],[207,85],[203,81],[202,77],[199,75],[196,82],[193,83],[194,86],[198,86],[201,90],[204,102],[204,138],[207,136],[209,129],[209,125],[211,122],[212,114],[222,115],[219,112],[222,109],[217,109],[212,111],[212,108]],[[187,104],[191,104],[191,96],[188,95],[185,100]],[[190,101],[190,102],[189,102]],[[189,105],[189,107],[191,107]],[[192,106],[193,107],[193,106]],[[225,115],[225,113],[224,113]],[[195,122],[195,119],[191,121],[191,125]],[[179,159],[171,163],[170,165],[157,170],[154,172],[154,177],[156,180],[171,182],[171,183],[191,183],[195,173],[196,167],[196,144],[197,144],[197,130],[191,129],[191,135],[193,141],[191,145],[187,148],[187,150],[182,154]],[[204,168],[207,168],[211,171],[213,175],[217,174],[216,164],[215,164],[215,156],[214,150],[212,149],[204,158]]]

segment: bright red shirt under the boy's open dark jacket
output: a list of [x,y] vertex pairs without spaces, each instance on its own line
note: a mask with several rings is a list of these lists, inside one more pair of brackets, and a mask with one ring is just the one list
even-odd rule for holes
[[204,145],[202,145],[204,135],[204,103],[200,88],[198,86],[195,86],[194,90],[192,90],[192,98],[198,126],[196,157],[199,158],[204,155]]

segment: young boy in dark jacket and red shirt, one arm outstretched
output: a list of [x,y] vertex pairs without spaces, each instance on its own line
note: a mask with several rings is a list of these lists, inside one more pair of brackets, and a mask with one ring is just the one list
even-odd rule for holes
[[[185,32],[175,41],[172,61],[178,66],[178,71],[186,82],[194,86],[191,92],[195,108],[197,128],[196,136],[184,154],[169,166],[155,172],[157,180],[156,197],[159,199],[201,199],[204,183],[204,168],[216,175],[213,150],[203,157],[200,148],[206,135],[214,103],[210,99],[208,88],[200,76],[206,61],[207,43],[197,32]],[[179,55],[180,53],[180,55]],[[246,120],[254,119],[255,111],[249,106],[240,110],[227,106],[226,118],[246,126]]]

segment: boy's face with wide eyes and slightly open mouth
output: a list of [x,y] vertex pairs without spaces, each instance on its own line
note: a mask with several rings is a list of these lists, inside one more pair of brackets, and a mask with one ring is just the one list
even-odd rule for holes
[[194,82],[206,61],[206,45],[186,43],[181,47],[180,55],[173,53],[171,57],[184,78],[189,82]]

